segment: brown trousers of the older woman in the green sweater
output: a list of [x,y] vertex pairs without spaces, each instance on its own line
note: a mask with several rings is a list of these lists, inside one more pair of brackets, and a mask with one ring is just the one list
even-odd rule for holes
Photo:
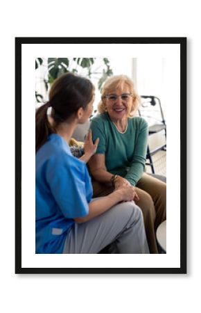
[[[94,197],[101,197],[112,193],[114,188],[93,181]],[[136,186],[139,201],[136,204],[141,208],[146,230],[150,253],[158,253],[156,230],[166,220],[166,183],[152,177],[145,172]]]

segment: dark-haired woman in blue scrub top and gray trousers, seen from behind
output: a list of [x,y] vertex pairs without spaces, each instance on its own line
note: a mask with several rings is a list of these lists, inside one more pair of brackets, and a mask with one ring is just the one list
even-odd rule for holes
[[[86,162],[96,153],[91,132],[76,159],[69,140],[92,112],[94,86],[68,73],[55,80],[49,102],[36,112],[36,253],[149,253],[134,187],[122,186],[91,202]],[[47,111],[51,108],[51,121]]]

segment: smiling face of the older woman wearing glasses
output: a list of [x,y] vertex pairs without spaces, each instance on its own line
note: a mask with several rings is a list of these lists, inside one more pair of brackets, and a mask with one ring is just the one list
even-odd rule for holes
[[128,85],[121,88],[109,90],[105,95],[105,111],[110,115],[111,120],[123,120],[128,118],[132,108],[133,97]]

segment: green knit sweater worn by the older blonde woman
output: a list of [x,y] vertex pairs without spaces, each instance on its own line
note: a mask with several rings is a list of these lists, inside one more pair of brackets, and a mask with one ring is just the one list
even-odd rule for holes
[[100,138],[96,154],[105,154],[108,172],[120,175],[135,186],[144,170],[148,138],[148,124],[139,117],[128,118],[128,128],[122,134],[107,113],[91,121],[93,141]]

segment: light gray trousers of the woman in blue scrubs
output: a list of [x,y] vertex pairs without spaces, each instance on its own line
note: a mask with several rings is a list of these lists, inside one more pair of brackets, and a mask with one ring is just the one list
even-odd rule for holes
[[75,223],[63,253],[98,253],[108,245],[109,253],[149,253],[143,215],[133,201],[116,204],[85,223]]

